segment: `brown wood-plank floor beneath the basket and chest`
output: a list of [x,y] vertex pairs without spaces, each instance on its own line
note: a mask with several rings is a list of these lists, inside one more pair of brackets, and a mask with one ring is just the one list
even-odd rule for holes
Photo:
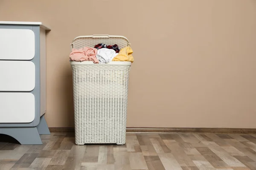
[[0,170],[256,170],[256,134],[127,133],[125,145],[74,144],[74,133],[43,145],[0,137]]

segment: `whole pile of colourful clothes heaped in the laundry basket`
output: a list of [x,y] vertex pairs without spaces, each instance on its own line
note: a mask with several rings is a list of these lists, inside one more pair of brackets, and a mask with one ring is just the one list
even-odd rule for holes
[[106,45],[103,43],[92,47],[80,49],[73,48],[70,53],[70,61],[93,61],[93,63],[109,63],[110,61],[134,62],[130,46],[119,48],[118,45]]

